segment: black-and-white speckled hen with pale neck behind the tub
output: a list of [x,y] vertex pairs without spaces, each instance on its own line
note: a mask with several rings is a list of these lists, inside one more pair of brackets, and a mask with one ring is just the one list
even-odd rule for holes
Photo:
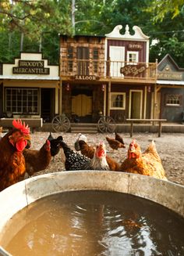
[[65,153],[65,170],[109,170],[106,160],[106,150],[103,142],[96,146],[93,159],[76,153],[65,142],[60,142]]

